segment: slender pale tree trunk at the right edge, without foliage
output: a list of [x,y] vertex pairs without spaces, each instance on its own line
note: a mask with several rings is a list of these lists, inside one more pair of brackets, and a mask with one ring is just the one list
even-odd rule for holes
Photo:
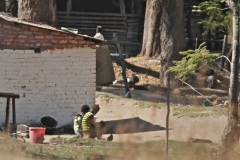
[[237,2],[228,1],[229,7],[233,12],[233,40],[232,40],[232,64],[230,74],[230,88],[229,88],[229,113],[228,124],[226,125],[222,135],[222,152],[229,156],[234,148],[239,143],[238,135],[238,63],[239,63],[239,11]]

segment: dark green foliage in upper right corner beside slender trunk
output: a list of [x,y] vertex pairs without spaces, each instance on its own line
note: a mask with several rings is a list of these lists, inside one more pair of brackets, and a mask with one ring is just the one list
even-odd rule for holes
[[205,30],[203,34],[207,34],[209,31],[227,30],[231,26],[232,14],[229,12],[229,8],[221,8],[221,3],[225,1],[209,0],[198,5],[201,13],[205,15],[205,18],[199,22]]

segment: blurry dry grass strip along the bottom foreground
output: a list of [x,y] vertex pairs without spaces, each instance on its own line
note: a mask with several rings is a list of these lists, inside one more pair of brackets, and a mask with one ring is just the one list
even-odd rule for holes
[[[1,135],[0,135],[1,136]],[[165,159],[165,141],[146,143],[115,143],[81,138],[54,138],[52,144],[23,143],[15,138],[6,137],[0,140],[1,155],[28,157],[44,160],[127,160],[127,159]],[[215,144],[199,144],[169,141],[169,160],[215,160],[211,147]],[[239,148],[236,149],[236,160]],[[20,157],[19,157],[20,156]],[[25,160],[25,158],[24,158]],[[234,160],[234,158],[233,158]]]

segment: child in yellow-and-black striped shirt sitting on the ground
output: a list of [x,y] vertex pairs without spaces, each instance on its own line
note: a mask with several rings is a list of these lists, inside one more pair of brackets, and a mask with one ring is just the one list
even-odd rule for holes
[[96,123],[94,120],[94,115],[96,115],[100,110],[99,105],[94,105],[91,112],[87,112],[82,118],[82,130],[83,138],[97,138],[102,140],[112,141],[113,136],[110,135],[107,139],[102,137],[103,128],[105,123],[103,121]]

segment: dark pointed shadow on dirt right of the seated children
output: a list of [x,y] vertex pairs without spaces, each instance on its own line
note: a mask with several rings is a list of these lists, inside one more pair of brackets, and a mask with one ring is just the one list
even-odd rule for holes
[[104,134],[125,134],[166,130],[165,127],[153,125],[139,117],[105,121]]

